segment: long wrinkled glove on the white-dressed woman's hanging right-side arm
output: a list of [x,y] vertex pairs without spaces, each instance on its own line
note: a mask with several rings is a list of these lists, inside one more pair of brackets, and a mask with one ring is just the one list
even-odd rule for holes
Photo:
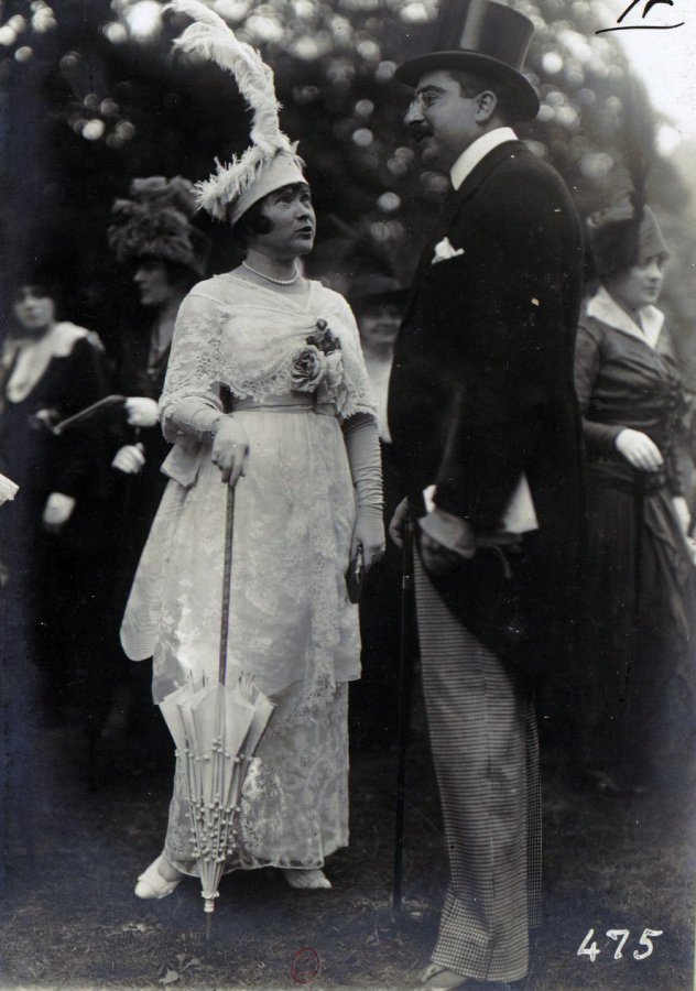
[[344,424],[350,473],[358,493],[351,557],[362,544],[366,574],[384,554],[382,460],[377,423],[371,416],[351,416]]

